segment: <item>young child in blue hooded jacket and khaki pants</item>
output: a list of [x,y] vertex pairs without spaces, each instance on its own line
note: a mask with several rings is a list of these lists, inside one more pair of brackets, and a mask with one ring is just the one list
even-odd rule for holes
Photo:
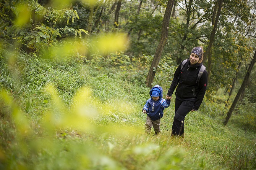
[[163,89],[159,85],[152,87],[149,92],[151,98],[147,100],[142,112],[147,113],[145,130],[150,133],[153,126],[155,134],[160,132],[160,119],[163,117],[164,109],[170,106],[171,100],[163,99]]

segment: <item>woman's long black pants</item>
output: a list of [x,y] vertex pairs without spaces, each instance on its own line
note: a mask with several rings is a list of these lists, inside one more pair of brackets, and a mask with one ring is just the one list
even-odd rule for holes
[[172,135],[183,136],[185,116],[192,110],[195,102],[175,99],[175,114],[172,124]]

